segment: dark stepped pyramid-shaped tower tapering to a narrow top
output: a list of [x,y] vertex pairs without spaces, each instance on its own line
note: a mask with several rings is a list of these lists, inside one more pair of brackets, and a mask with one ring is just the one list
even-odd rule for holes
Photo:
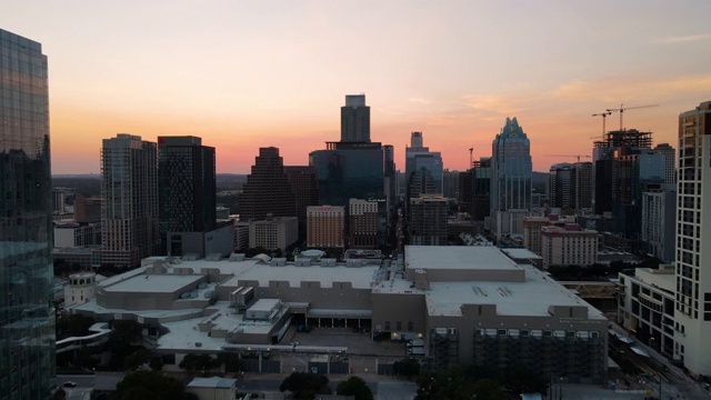
[[240,219],[297,217],[297,200],[279,149],[260,148],[240,197]]

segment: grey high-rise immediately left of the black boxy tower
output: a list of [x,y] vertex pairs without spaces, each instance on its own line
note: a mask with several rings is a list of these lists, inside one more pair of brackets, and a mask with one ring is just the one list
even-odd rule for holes
[[133,268],[160,252],[158,151],[139,136],[103,139],[102,262]]

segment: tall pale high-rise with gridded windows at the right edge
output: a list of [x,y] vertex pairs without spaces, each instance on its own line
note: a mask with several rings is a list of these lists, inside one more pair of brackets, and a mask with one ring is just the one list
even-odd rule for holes
[[679,116],[674,359],[711,374],[711,101]]

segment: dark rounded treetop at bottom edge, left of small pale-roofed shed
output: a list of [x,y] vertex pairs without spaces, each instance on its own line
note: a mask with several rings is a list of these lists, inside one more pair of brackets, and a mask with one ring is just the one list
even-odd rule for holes
[[188,400],[186,387],[179,380],[158,371],[134,371],[120,381],[110,400]]

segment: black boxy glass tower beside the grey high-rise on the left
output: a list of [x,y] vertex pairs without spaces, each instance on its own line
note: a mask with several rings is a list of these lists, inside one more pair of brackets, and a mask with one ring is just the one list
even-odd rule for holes
[[214,229],[214,148],[196,137],[158,137],[158,188],[162,240]]

